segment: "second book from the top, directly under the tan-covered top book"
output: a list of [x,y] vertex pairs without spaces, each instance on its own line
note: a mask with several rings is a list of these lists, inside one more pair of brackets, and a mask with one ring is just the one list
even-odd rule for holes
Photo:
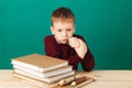
[[21,66],[18,66],[18,65],[13,65],[13,68],[22,70],[22,72],[24,72],[29,75],[40,77],[40,78],[52,77],[52,76],[56,76],[56,75],[68,73],[68,72],[73,70],[73,66],[69,66],[69,65],[63,66],[63,67],[59,67],[59,68],[56,68],[56,69],[53,69],[53,70],[47,70],[47,72],[44,72],[44,73],[31,70],[31,69],[28,69],[28,68],[24,68],[24,67],[21,67]]

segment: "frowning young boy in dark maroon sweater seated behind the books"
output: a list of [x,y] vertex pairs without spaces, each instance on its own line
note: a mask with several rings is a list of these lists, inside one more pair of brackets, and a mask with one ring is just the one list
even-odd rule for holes
[[90,72],[95,59],[82,36],[75,35],[75,15],[68,8],[58,8],[52,13],[53,35],[44,38],[45,53],[48,56],[68,61],[74,69],[78,64],[82,69]]

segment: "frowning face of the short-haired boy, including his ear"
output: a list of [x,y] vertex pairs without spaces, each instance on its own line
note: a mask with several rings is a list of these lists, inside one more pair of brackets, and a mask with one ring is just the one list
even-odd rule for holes
[[75,24],[74,22],[53,22],[51,31],[58,43],[66,44],[75,32]]

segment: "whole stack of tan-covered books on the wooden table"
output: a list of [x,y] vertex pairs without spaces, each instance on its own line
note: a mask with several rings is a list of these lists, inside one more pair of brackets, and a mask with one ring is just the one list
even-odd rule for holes
[[15,78],[41,87],[75,75],[67,61],[40,54],[12,58],[11,64]]

